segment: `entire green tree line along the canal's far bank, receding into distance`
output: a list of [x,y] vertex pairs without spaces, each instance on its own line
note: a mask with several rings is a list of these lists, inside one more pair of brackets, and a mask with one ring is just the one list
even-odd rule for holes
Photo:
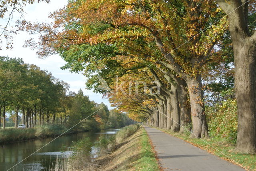
[[[104,103],[90,101],[81,89],[78,93],[68,93],[67,83],[35,65],[24,64],[21,59],[0,57],[0,78],[0,123],[2,117],[3,129],[6,128],[6,113],[14,120],[14,127],[50,123],[73,126],[95,111],[88,119],[90,124],[84,124],[89,130],[130,123],[124,113],[113,110],[110,115]],[[22,115],[21,119],[19,115]]]

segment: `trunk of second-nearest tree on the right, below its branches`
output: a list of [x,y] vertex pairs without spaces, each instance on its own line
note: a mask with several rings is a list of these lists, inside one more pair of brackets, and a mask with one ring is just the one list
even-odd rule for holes
[[208,137],[208,127],[206,123],[204,109],[204,91],[202,90],[201,76],[186,80],[188,84],[190,107],[192,116],[192,137]]

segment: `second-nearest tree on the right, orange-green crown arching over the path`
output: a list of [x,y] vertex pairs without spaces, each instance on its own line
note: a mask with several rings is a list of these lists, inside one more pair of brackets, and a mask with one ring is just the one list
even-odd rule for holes
[[[202,91],[202,66],[209,61],[213,47],[226,26],[225,20],[216,24],[222,15],[217,9],[216,3],[210,0],[143,0],[128,3],[78,0],[52,15],[56,19],[53,28],[48,24],[29,24],[26,28],[32,30],[32,34],[46,33],[40,37],[42,43],[36,44],[40,47],[38,54],[42,56],[60,52],[65,59],[72,60],[70,52],[76,51],[78,62],[84,62],[84,53],[80,48],[90,50],[97,47],[98,51],[108,50],[107,54],[111,54],[106,55],[104,60],[111,56],[132,54],[148,62],[148,66],[158,63],[168,72],[175,72],[174,75],[178,75],[188,85],[193,135],[203,137],[208,135],[208,130]],[[212,23],[215,25],[209,27]],[[62,27],[65,28],[64,32],[58,29]],[[198,34],[201,30],[204,32]],[[33,43],[30,42],[28,46]],[[180,48],[182,44],[186,46]],[[89,62],[92,64],[97,63],[95,59],[104,62],[98,56],[94,58],[93,54],[90,57]],[[106,63],[113,64],[111,59]]]

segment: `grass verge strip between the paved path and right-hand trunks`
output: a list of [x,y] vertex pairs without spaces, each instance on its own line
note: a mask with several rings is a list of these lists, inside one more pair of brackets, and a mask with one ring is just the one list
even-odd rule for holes
[[209,153],[217,155],[222,159],[230,161],[236,165],[243,166],[250,171],[256,171],[256,155],[241,154],[235,150],[235,145],[232,143],[225,143],[222,139],[196,139],[190,138],[189,135],[173,133],[166,129],[156,128],[165,133],[185,140],[188,143],[192,143],[196,147],[207,150]]

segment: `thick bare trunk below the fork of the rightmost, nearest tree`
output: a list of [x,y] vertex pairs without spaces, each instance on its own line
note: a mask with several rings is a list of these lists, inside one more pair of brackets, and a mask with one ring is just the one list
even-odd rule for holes
[[256,44],[232,33],[235,57],[235,93],[238,106],[236,149],[256,153]]

